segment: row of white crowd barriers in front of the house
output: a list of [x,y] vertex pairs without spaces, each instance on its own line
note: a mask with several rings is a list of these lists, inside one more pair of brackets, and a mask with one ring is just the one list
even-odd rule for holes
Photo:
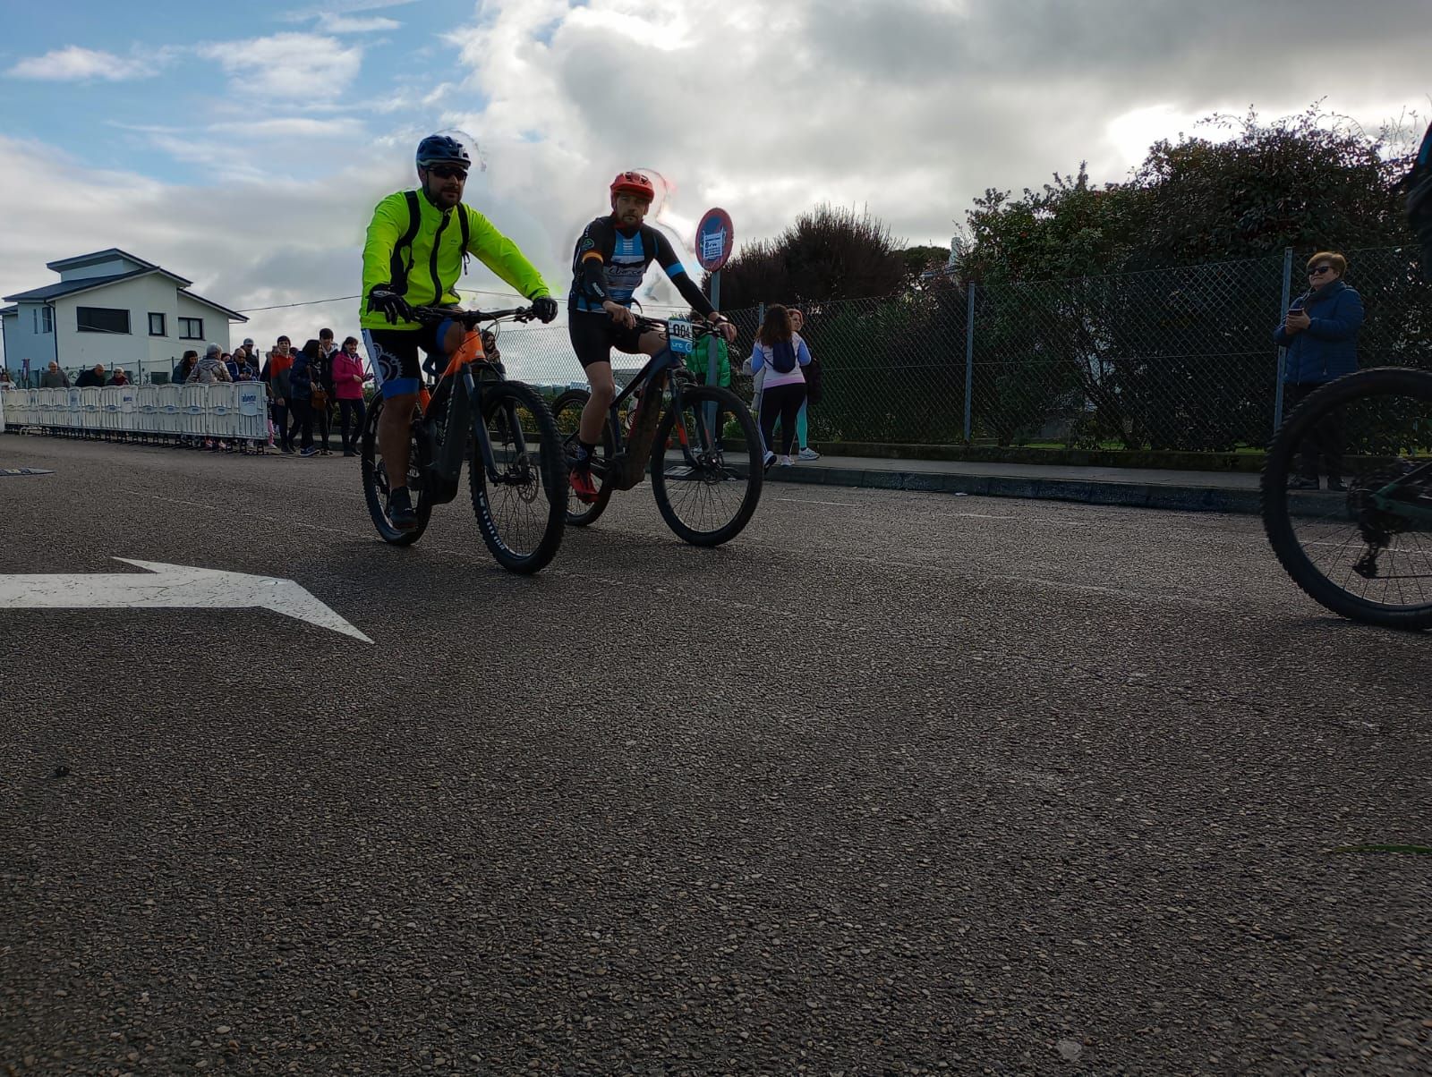
[[268,391],[256,381],[0,390],[0,430],[122,441],[268,441]]

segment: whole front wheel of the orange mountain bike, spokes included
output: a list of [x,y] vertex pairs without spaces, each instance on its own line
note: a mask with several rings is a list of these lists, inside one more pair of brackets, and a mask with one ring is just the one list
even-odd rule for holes
[[475,440],[467,473],[483,541],[508,571],[540,571],[557,556],[567,520],[557,424],[534,388],[501,381],[483,388],[483,428],[495,474]]

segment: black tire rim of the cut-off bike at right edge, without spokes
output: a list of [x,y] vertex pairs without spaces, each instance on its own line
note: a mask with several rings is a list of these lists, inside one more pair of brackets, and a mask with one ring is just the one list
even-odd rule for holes
[[1392,395],[1432,405],[1432,372],[1379,367],[1348,374],[1313,392],[1283,421],[1269,445],[1263,465],[1263,530],[1293,583],[1325,609],[1366,624],[1418,630],[1432,627],[1432,603],[1415,607],[1388,606],[1349,593],[1330,580],[1307,556],[1289,511],[1287,477],[1303,437],[1335,408],[1365,397]]

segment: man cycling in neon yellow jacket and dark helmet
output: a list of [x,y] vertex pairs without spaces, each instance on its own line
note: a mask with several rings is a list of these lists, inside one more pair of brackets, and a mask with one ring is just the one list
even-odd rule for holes
[[411,318],[412,308],[455,306],[457,282],[471,253],[531,299],[541,321],[557,317],[557,301],[541,274],[511,239],[463,203],[471,163],[457,139],[447,135],[422,139],[417,153],[421,186],[388,195],[378,203],[362,249],[367,304],[359,325],[374,381],[385,401],[378,448],[388,471],[388,518],[400,530],[418,523],[407,487],[408,424],[422,380],[418,348],[430,355],[447,354],[445,324],[420,325]]

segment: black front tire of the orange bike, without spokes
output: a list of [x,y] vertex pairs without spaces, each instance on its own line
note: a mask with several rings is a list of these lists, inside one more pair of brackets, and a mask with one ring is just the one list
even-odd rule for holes
[[[477,527],[483,533],[487,549],[508,571],[531,574],[540,571],[551,563],[561,546],[563,527],[567,523],[567,470],[561,451],[561,440],[557,437],[557,422],[553,420],[547,401],[534,388],[520,381],[501,381],[483,388],[483,424],[493,415],[505,410],[507,405],[526,408],[537,427],[526,437],[527,455],[537,453],[537,478],[540,488],[536,497],[547,501],[547,520],[543,536],[533,550],[520,553],[513,550],[504,540],[501,526],[493,513],[488,494],[487,467],[483,464],[483,447],[473,438],[473,453],[468,460],[468,486],[473,491],[473,513],[477,516]],[[498,464],[501,467],[501,463]]]

